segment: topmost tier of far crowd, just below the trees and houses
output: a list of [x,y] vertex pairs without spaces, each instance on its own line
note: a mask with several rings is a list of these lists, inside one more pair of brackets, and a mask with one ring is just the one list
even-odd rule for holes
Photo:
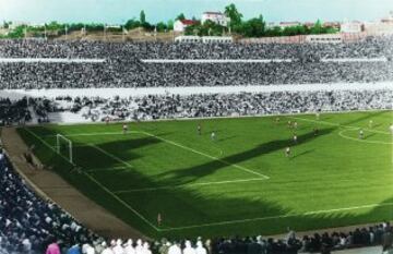
[[298,59],[378,58],[393,53],[392,37],[350,44],[184,44],[0,40],[2,58]]

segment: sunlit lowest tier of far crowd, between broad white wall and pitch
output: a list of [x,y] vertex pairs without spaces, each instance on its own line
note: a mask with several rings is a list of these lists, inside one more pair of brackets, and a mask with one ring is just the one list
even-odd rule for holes
[[[62,101],[69,101],[67,107]],[[71,101],[71,104],[70,104]],[[81,111],[93,121],[212,118],[392,109],[392,90],[274,92],[261,94],[148,95],[122,99],[58,97],[60,111]]]

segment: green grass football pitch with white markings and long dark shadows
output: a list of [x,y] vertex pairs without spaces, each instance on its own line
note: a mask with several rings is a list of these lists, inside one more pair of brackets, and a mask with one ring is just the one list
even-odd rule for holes
[[[287,227],[392,219],[392,117],[373,111],[319,120],[283,116],[278,123],[276,117],[140,122],[129,123],[126,135],[122,124],[19,132],[44,164],[148,237],[274,234]],[[73,142],[78,170],[53,152],[58,133]]]

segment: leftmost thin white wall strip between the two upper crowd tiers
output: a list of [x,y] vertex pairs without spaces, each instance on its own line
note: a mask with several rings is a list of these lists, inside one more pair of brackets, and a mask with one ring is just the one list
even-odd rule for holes
[[0,58],[0,63],[103,63],[105,59],[87,59],[87,58]]

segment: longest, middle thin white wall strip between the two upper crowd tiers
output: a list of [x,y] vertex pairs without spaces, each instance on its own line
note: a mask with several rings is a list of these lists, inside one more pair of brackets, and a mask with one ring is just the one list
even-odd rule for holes
[[141,59],[144,63],[271,63],[293,62],[291,59]]

